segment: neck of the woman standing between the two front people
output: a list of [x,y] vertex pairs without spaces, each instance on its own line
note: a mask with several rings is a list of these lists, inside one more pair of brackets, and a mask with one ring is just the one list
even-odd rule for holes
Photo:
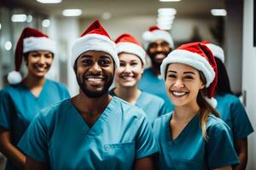
[[133,87],[122,87],[117,85],[116,88],[113,90],[114,94],[116,94],[119,98],[124,99],[125,101],[136,104],[138,97],[142,92],[137,89],[137,86]]

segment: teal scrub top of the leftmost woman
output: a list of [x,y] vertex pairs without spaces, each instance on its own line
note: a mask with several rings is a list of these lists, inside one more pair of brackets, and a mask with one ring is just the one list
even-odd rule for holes
[[[36,114],[44,107],[69,98],[67,88],[48,79],[38,97],[35,97],[20,82],[0,91],[0,128],[12,133],[12,144],[16,145]],[[17,169],[8,161],[6,169]]]

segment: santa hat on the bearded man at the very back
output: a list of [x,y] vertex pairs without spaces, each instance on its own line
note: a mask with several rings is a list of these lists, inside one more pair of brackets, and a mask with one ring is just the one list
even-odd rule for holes
[[157,40],[164,40],[169,43],[170,48],[174,48],[174,42],[170,32],[165,30],[160,30],[157,26],[151,26],[148,31],[143,33],[143,40],[145,42],[145,48],[148,48],[150,42]]

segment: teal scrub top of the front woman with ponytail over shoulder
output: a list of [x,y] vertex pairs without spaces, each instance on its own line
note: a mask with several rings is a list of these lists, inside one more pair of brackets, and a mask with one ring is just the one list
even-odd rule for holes
[[160,152],[160,169],[199,170],[214,169],[237,164],[230,128],[216,116],[207,121],[206,141],[201,133],[200,116],[197,115],[172,139],[169,125],[172,112],[154,122],[154,135]]

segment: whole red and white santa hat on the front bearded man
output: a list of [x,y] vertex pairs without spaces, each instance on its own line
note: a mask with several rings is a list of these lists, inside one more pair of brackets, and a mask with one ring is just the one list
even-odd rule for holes
[[116,45],[108,36],[99,20],[95,20],[73,43],[71,65],[73,66],[80,54],[86,51],[103,51],[112,56],[116,68],[119,67],[119,57]]

